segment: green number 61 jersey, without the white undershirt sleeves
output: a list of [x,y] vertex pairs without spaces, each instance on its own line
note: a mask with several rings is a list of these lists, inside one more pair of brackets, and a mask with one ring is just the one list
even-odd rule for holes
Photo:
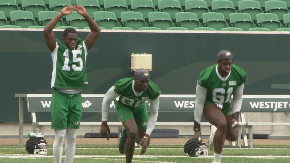
[[239,66],[232,64],[230,75],[223,78],[218,73],[217,64],[203,70],[198,76],[198,84],[208,89],[206,101],[217,104],[219,108],[232,103],[231,95],[237,87],[246,82],[247,74]]

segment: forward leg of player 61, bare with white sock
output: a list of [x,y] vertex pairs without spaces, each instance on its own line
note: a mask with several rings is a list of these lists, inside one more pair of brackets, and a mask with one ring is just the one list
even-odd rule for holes
[[227,120],[224,113],[215,104],[207,105],[204,114],[208,122],[217,128],[214,134],[214,162],[220,162],[221,152],[226,138]]

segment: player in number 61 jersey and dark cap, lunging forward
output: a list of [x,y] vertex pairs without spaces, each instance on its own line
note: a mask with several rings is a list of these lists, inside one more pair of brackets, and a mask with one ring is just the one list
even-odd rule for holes
[[201,136],[200,121],[204,115],[212,124],[208,145],[210,150],[214,149],[213,163],[221,162],[225,139],[235,141],[239,133],[237,122],[247,74],[232,62],[232,53],[222,50],[217,55],[217,64],[203,70],[196,85],[194,136],[195,139]]

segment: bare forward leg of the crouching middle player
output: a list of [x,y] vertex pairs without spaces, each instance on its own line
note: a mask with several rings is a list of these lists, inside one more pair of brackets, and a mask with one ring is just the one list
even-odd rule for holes
[[135,150],[135,142],[138,136],[138,129],[135,120],[126,120],[123,123],[127,131],[127,140],[125,142],[125,154],[126,154],[126,163],[131,163],[133,159],[133,154]]

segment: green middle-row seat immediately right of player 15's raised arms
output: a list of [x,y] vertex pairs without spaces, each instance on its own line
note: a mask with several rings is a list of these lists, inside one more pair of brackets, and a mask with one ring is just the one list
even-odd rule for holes
[[99,27],[112,29],[118,27],[118,21],[114,12],[97,11],[94,12],[94,20],[98,23]]

